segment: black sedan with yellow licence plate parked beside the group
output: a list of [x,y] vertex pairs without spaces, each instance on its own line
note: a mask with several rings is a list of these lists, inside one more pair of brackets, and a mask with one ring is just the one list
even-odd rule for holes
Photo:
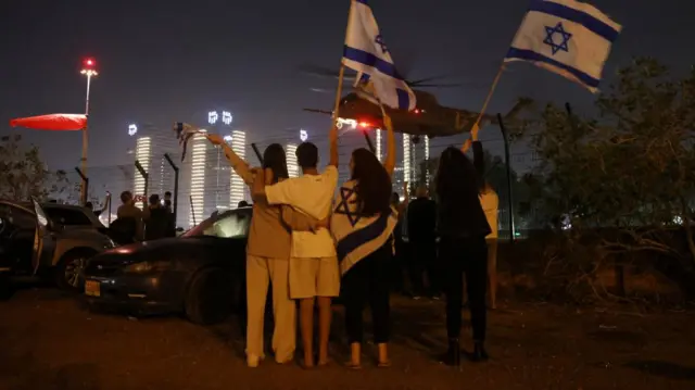
[[214,215],[181,237],[119,247],[92,257],[85,297],[92,305],[184,313],[197,324],[225,319],[245,302],[251,209]]

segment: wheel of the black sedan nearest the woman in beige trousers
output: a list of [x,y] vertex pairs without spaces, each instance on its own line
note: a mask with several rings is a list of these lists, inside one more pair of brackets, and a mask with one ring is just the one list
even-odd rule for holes
[[231,313],[233,289],[228,272],[218,267],[199,271],[185,300],[186,317],[200,325],[222,323]]

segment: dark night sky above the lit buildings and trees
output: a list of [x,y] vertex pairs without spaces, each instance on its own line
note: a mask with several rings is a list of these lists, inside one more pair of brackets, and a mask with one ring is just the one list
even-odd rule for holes
[[[652,55],[677,72],[695,64],[695,2],[594,0],[623,25],[605,80],[632,55]],[[396,5],[397,4],[397,5]],[[372,0],[396,66],[408,78],[448,75],[465,83],[440,89],[440,102],[479,110],[516,29],[526,0]],[[0,134],[20,131],[41,147],[51,167],[79,161],[79,133],[10,129],[16,116],[80,113],[86,79],[80,61],[93,56],[89,165],[131,162],[129,123],[167,129],[175,121],[229,110],[251,140],[303,127],[327,131],[332,88],[298,71],[302,64],[338,68],[348,0],[163,1],[4,0],[0,4]],[[401,60],[400,60],[401,59]],[[402,62],[402,63],[400,63]],[[406,64],[407,62],[407,64]],[[407,65],[407,66],[406,66]],[[570,101],[586,108],[592,95],[547,71],[515,63],[491,103],[506,111],[518,96]],[[198,121],[202,122],[202,121]],[[202,123],[201,123],[202,125]],[[484,138],[489,135],[481,134]],[[492,137],[492,136],[490,136]]]

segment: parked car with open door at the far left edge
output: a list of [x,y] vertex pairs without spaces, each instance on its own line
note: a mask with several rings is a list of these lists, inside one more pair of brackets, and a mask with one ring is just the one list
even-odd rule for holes
[[84,284],[87,260],[114,248],[96,215],[85,207],[0,201],[0,269],[10,276],[49,276],[64,289]]

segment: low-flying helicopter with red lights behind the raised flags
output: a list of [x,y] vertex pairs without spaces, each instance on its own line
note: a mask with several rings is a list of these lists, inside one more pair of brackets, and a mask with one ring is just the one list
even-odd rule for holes
[[[306,73],[318,76],[338,77],[337,72],[320,68],[316,66],[304,67]],[[462,133],[470,131],[478,119],[479,113],[473,111],[448,108],[440,104],[434,95],[418,88],[446,88],[456,87],[456,84],[430,84],[430,81],[440,77],[428,77],[419,80],[406,80],[407,85],[413,89],[417,99],[417,106],[414,110],[395,110],[384,106],[386,113],[391,117],[393,130],[414,136],[414,142],[418,142],[419,138],[427,136],[429,138],[455,136]],[[345,75],[344,81],[355,79],[353,75]],[[320,91],[317,88],[312,90]],[[338,108],[338,123],[352,124],[362,129],[381,128],[383,126],[383,115],[379,104],[362,88],[354,88],[353,92],[345,95]],[[504,119],[513,121],[515,116],[525,108],[531,105],[532,101],[528,98],[521,98],[514,108],[504,116]],[[332,115],[332,111],[304,109],[307,112]],[[505,121],[506,122],[506,121]],[[496,115],[482,115],[480,127],[485,125],[497,125]]]

